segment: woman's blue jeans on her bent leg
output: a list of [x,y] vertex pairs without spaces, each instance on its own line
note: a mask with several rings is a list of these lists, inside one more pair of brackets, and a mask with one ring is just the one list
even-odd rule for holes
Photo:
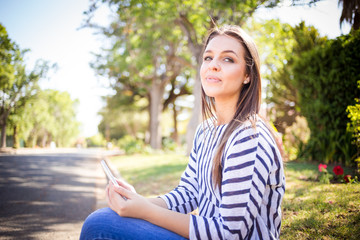
[[81,229],[80,240],[185,240],[165,228],[145,220],[120,217],[110,208],[91,213]]

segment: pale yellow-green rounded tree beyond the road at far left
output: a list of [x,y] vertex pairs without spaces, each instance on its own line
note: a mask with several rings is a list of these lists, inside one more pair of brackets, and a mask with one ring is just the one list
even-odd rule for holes
[[39,91],[22,114],[17,115],[19,137],[30,147],[45,147],[51,141],[59,147],[72,146],[79,134],[77,103],[67,92]]

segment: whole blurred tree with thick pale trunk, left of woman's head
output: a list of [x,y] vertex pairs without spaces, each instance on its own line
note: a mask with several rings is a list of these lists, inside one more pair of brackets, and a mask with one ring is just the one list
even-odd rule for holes
[[[122,10],[110,28],[115,44],[105,57],[100,56],[105,64],[95,68],[107,69],[106,74],[115,78],[118,89],[139,93],[148,99],[150,145],[160,148],[159,126],[165,87],[191,63],[190,57],[178,50],[184,46],[180,29],[167,28],[166,22],[154,17],[152,9],[162,5],[153,3],[142,11],[145,4]],[[109,30],[105,34],[109,35]]]

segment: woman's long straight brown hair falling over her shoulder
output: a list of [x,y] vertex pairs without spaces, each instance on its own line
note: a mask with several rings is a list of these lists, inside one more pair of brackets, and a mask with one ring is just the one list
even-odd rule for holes
[[[244,48],[245,62],[246,62],[246,74],[249,76],[249,83],[243,84],[240,89],[239,99],[237,101],[236,112],[233,119],[228,123],[225,129],[220,143],[218,145],[217,152],[213,159],[213,182],[215,187],[221,187],[222,179],[222,165],[221,157],[224,151],[227,140],[233,131],[239,127],[246,120],[252,122],[255,127],[256,115],[259,113],[261,104],[261,77],[260,77],[260,59],[257,52],[257,48],[253,40],[238,26],[224,26],[221,28],[214,28],[210,31],[205,44],[206,49],[209,42],[216,36],[226,35],[233,37],[239,41]],[[203,51],[204,51],[203,50]],[[216,107],[215,99],[205,94],[204,89],[201,87],[202,94],[202,115],[204,119],[213,119],[214,125],[216,125]]]

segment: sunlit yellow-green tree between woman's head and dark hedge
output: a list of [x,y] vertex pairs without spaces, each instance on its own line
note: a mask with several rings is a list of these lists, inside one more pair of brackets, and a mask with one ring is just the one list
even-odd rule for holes
[[303,52],[324,44],[326,37],[320,36],[313,26],[304,22],[295,27],[278,20],[253,23],[268,81],[266,101],[272,107],[272,120],[281,133],[291,126],[300,113],[298,87],[294,80],[294,65]]

